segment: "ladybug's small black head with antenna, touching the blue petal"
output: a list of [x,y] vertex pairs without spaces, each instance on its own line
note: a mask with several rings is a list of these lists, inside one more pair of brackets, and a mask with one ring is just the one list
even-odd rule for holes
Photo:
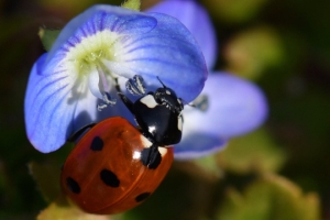
[[[158,78],[161,81],[161,79]],[[183,100],[180,98],[177,98],[175,91],[170,88],[167,88],[162,81],[163,88],[158,88],[155,94],[154,98],[160,105],[165,105],[169,108],[169,110],[176,112],[177,114],[180,114],[180,112],[184,110]]]

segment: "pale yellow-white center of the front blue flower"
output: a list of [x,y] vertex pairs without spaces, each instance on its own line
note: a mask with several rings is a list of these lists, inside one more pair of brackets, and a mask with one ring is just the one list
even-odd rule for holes
[[109,30],[97,32],[70,47],[64,59],[66,69],[76,76],[75,88],[82,87],[85,91],[80,90],[80,94],[86,94],[86,89],[89,88],[94,96],[103,100],[103,103],[98,106],[99,110],[116,103],[110,97],[111,85],[108,81],[118,77],[117,73],[110,69],[111,65],[118,62],[121,36]]

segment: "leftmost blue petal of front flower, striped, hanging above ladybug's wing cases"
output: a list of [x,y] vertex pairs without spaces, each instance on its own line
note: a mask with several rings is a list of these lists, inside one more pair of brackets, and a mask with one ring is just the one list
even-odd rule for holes
[[80,128],[108,117],[123,116],[133,122],[121,102],[97,111],[97,98],[88,90],[79,94],[85,89],[75,88],[73,76],[44,70],[46,57],[47,54],[42,55],[32,68],[24,103],[28,138],[37,151],[56,151]]

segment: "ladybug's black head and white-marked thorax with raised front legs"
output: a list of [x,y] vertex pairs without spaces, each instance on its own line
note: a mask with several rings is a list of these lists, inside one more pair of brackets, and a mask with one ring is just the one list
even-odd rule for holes
[[143,95],[135,102],[124,96],[117,82],[118,95],[134,114],[143,134],[157,145],[177,144],[183,133],[183,100],[175,91],[166,87],[161,79],[163,88],[150,91],[145,95],[144,80],[135,75],[127,81],[127,89],[133,95]]

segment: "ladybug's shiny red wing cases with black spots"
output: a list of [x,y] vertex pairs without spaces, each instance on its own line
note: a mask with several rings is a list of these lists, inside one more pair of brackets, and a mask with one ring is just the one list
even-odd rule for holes
[[119,213],[157,188],[173,157],[172,147],[155,146],[123,118],[109,118],[91,128],[69,154],[62,188],[87,212]]

